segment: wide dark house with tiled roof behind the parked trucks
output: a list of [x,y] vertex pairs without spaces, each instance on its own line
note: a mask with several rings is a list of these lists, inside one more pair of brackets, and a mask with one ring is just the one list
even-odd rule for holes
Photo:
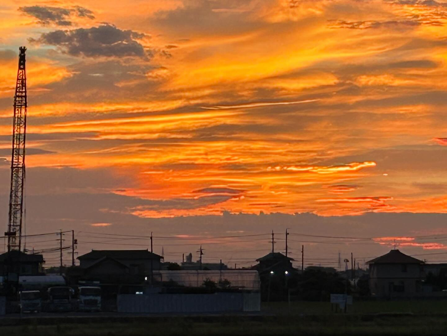
[[142,283],[160,270],[161,256],[145,250],[92,250],[68,275],[101,283]]

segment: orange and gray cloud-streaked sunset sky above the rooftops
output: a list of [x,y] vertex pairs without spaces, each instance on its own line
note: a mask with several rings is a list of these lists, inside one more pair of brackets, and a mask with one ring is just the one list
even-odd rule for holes
[[80,253],[113,247],[82,232],[287,227],[371,245],[329,254],[447,251],[447,1],[2,1],[5,227],[19,46],[29,233],[80,231]]

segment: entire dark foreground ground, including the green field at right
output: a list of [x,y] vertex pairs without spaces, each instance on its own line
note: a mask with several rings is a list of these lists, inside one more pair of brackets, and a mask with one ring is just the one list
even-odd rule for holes
[[8,315],[0,335],[447,335],[447,301],[354,303],[346,315],[329,303],[270,303],[245,315]]

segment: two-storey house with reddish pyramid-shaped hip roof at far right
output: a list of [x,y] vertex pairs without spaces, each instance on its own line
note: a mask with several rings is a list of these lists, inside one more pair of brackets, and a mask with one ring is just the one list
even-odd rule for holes
[[371,295],[378,298],[412,297],[422,292],[424,261],[391,250],[367,264]]

